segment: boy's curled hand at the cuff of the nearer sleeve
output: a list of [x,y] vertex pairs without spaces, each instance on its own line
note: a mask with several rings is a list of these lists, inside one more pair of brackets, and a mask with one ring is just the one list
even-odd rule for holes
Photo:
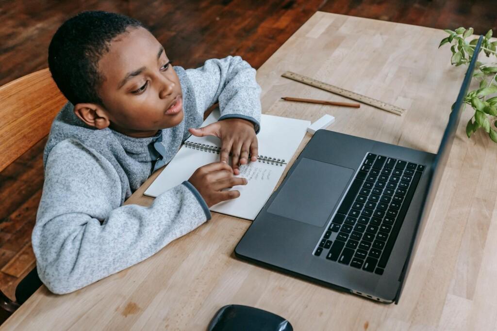
[[223,189],[247,185],[247,179],[235,177],[233,168],[224,162],[209,163],[198,168],[188,182],[197,189],[209,207],[221,201],[240,197],[240,191],[222,191]]

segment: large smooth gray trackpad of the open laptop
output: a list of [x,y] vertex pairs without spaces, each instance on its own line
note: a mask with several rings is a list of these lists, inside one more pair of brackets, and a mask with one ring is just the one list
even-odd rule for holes
[[354,170],[302,158],[267,211],[323,226]]

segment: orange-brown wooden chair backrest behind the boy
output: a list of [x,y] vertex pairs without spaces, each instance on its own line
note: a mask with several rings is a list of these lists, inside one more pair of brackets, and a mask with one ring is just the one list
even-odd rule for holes
[[50,132],[66,102],[48,68],[0,87],[0,171]]

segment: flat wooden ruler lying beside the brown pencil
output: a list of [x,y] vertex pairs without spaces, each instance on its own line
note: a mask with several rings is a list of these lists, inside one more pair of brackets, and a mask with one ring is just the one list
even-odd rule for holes
[[404,112],[406,111],[404,108],[390,105],[390,104],[385,103],[383,101],[376,100],[376,99],[373,99],[373,98],[370,98],[370,97],[367,97],[367,96],[364,96],[361,94],[357,94],[355,92],[348,91],[348,90],[345,90],[343,88],[340,88],[340,87],[337,87],[337,86],[334,86],[334,85],[331,85],[328,83],[324,83],[322,81],[319,81],[319,80],[316,80],[314,78],[310,78],[307,76],[303,76],[301,74],[298,74],[298,73],[295,73],[292,71],[286,71],[285,73],[282,74],[282,76],[299,81],[299,82],[307,84],[307,85],[311,85],[311,86],[320,88],[322,90],[325,90],[325,91],[328,91],[331,93],[341,95],[343,97],[346,97],[346,98],[349,98],[352,100],[356,100],[356,101],[365,103],[367,105],[379,108],[381,110],[385,110],[387,112],[390,112],[390,113],[393,113],[393,114],[396,114],[399,116],[402,116],[402,114],[404,114]]

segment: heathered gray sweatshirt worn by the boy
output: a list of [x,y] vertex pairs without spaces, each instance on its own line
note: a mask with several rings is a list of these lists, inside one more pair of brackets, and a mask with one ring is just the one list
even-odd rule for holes
[[150,207],[123,205],[176,154],[219,101],[221,118],[243,118],[259,130],[260,87],[240,57],[212,59],[197,69],[174,66],[183,93],[183,121],[148,138],[86,126],[68,103],[55,118],[44,153],[45,183],[32,244],[48,289],[69,293],[154,255],[211,214],[189,183]]

